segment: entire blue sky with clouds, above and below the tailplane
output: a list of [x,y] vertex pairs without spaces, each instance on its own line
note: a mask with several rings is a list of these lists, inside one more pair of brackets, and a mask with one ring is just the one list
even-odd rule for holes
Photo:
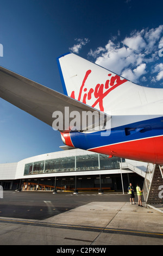
[[[0,0],[0,65],[63,93],[56,58],[72,51],[163,87],[161,1]],[[161,52],[163,53],[163,51]],[[0,162],[59,151],[60,133],[0,99]]]

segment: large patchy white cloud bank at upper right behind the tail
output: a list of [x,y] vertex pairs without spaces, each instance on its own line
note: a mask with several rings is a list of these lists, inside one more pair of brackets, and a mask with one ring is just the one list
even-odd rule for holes
[[[162,79],[163,64],[155,65],[159,58],[159,43],[163,42],[163,25],[152,29],[133,31],[129,36],[117,42],[112,37],[104,47],[90,50],[89,58],[95,58],[95,63],[115,72],[128,80],[139,83],[147,81],[147,70],[156,72],[153,81]],[[162,57],[163,59],[163,57]],[[151,69],[153,64],[154,68]],[[142,79],[143,78],[143,79]]]

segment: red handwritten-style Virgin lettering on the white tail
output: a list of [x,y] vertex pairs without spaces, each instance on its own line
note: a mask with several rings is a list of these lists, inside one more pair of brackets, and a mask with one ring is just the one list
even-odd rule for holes
[[[112,74],[108,74],[109,79],[106,80],[105,84],[100,84],[98,83],[95,87],[95,89],[90,88],[89,91],[87,91],[87,88],[85,86],[85,82],[87,80],[87,78],[89,77],[89,75],[91,74],[91,70],[87,70],[84,80],[82,82],[82,86],[80,87],[79,90],[79,95],[78,95],[78,99],[76,98],[76,95],[74,93],[74,90],[71,93],[71,97],[73,99],[77,99],[78,101],[82,101],[85,104],[89,105],[89,100],[92,99],[92,97],[95,98],[95,102],[92,104],[92,107],[95,107],[97,104],[99,104],[99,109],[101,111],[104,111],[104,107],[103,107],[103,99],[106,97],[106,95],[108,95],[111,90],[115,89],[116,87],[120,86],[121,84],[127,82],[126,79],[121,80],[120,76],[115,75],[112,76]],[[83,99],[82,99],[82,94],[84,92],[83,95]]]

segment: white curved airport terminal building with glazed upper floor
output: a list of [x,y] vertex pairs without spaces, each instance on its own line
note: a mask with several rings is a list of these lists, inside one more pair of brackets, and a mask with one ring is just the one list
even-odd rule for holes
[[[64,150],[66,148],[66,150]],[[146,163],[61,147],[16,163],[0,164],[3,190],[127,191],[129,182],[143,185]]]

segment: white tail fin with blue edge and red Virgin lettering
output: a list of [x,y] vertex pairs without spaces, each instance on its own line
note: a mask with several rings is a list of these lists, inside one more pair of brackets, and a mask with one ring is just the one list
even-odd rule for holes
[[58,57],[57,62],[65,95],[102,112],[120,102],[124,84],[133,84],[74,53]]

